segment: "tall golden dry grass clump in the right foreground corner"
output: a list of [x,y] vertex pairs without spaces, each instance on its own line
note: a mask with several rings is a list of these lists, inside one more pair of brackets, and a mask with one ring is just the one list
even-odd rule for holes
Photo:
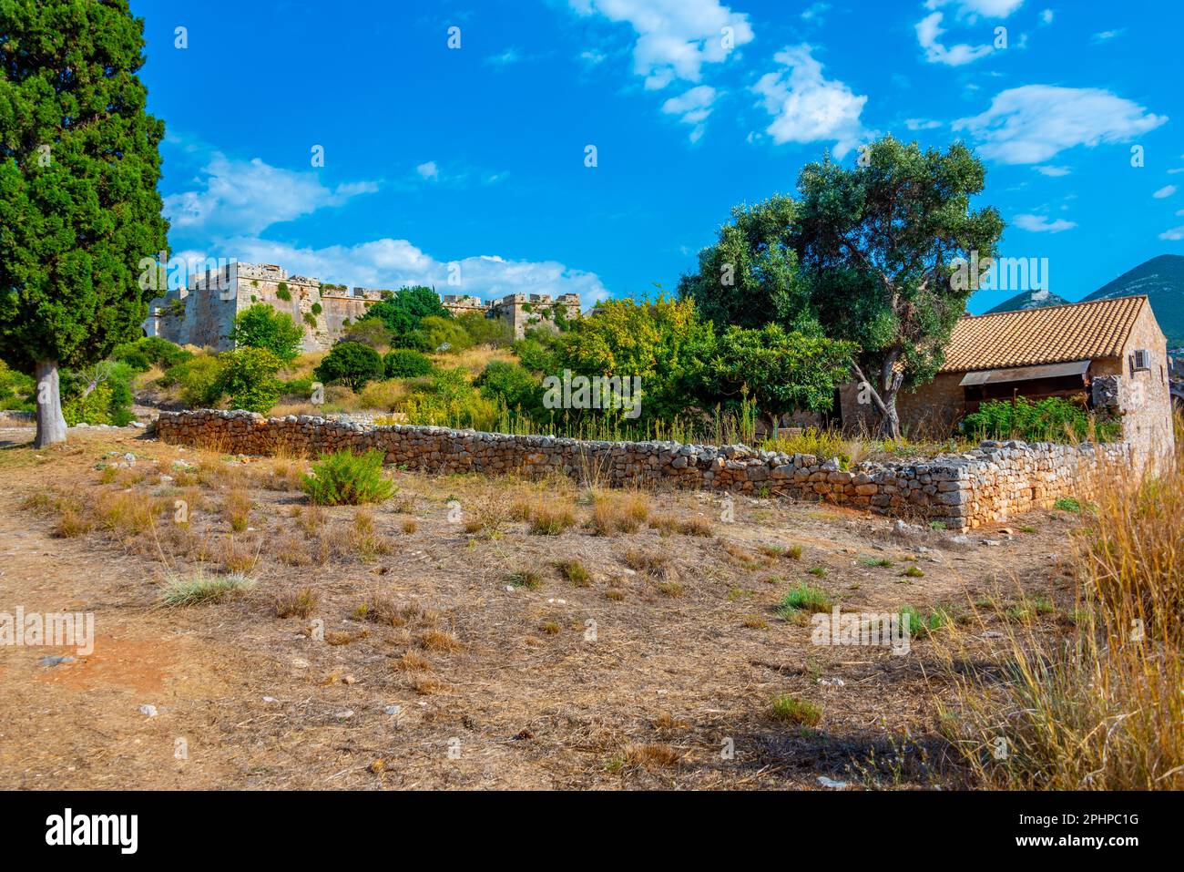
[[[1175,461],[1158,475],[1099,479],[1074,537],[1070,636],[1012,621],[1002,677],[959,678],[945,724],[980,784],[1184,788],[1184,454]],[[950,642],[951,665],[965,643]]]

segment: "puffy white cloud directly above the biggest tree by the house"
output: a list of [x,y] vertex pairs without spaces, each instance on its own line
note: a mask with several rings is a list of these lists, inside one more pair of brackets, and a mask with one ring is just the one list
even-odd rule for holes
[[753,85],[773,116],[766,129],[773,141],[819,142],[834,140],[835,155],[842,158],[869,133],[860,121],[866,95],[856,96],[837,79],[822,75],[822,64],[809,45],[786,46],[773,59],[783,70],[767,72]]

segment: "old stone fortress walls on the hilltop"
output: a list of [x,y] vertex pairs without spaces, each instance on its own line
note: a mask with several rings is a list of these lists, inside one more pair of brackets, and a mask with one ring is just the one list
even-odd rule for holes
[[[191,275],[185,288],[170,289],[152,301],[144,335],[163,336],[179,345],[225,351],[230,347],[234,316],[255,303],[266,303],[292,316],[304,329],[304,351],[326,351],[345,328],[393,291],[382,288],[347,288],[308,276],[290,275],[272,263],[231,262]],[[564,318],[580,315],[578,294],[510,294],[484,302],[475,296],[444,296],[453,315],[474,312],[500,318],[521,338],[530,327],[554,328]]]

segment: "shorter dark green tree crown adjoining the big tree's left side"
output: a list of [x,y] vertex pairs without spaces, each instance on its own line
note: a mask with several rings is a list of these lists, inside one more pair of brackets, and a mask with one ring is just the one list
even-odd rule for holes
[[699,270],[678,280],[678,296],[694,300],[700,318],[721,329],[772,322],[816,332],[810,286],[793,249],[796,214],[783,194],[733,209],[716,242],[699,252]]

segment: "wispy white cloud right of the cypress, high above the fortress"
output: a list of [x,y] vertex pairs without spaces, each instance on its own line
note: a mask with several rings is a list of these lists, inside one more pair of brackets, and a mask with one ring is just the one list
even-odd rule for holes
[[328,188],[315,171],[279,169],[214,152],[194,179],[198,188],[165,198],[165,216],[174,230],[212,235],[257,233],[321,209],[340,206],[378,191],[378,182],[355,181]]

